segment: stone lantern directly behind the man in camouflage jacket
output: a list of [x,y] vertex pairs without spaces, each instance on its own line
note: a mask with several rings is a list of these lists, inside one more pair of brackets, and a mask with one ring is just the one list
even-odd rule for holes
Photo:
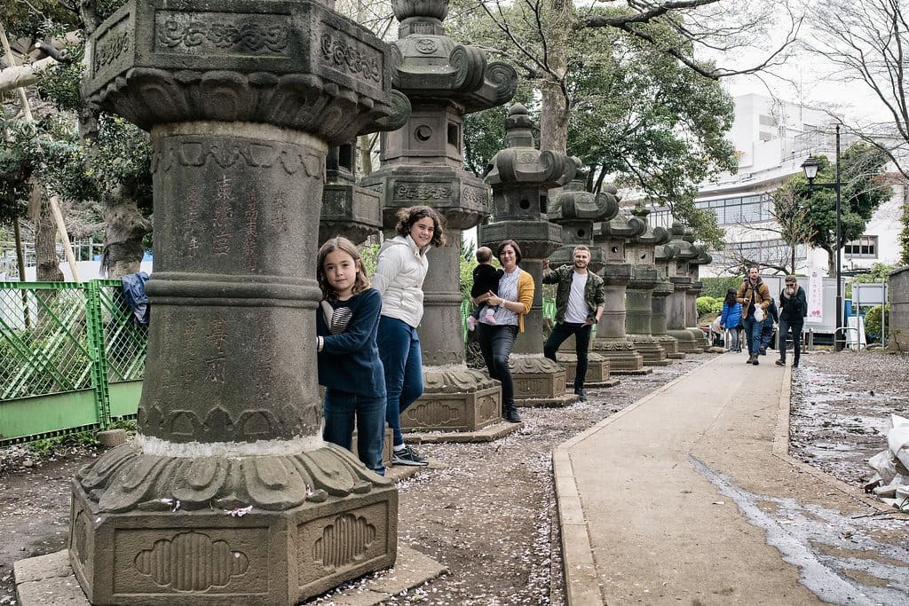
[[[574,263],[574,247],[584,244],[590,248],[587,270],[599,273],[604,266],[603,249],[594,245],[594,222],[609,221],[619,212],[618,196],[608,187],[600,194],[586,191],[587,173],[580,171],[581,161],[574,158],[578,171],[571,183],[555,195],[549,209],[549,221],[562,226],[562,247],[549,256],[549,267],[555,269]],[[605,306],[604,306],[605,313]],[[599,330],[599,327],[597,327]],[[568,382],[577,370],[577,353],[574,335],[559,347],[559,363],[565,367]],[[591,352],[587,360],[586,387],[611,387],[618,383],[609,377],[609,361],[599,353]]]

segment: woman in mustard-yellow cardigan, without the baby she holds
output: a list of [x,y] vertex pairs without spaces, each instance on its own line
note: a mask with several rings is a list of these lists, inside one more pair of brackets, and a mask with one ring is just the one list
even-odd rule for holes
[[489,376],[502,382],[502,417],[505,421],[516,423],[521,422],[521,415],[514,405],[514,382],[508,368],[508,357],[517,334],[524,333],[524,316],[530,313],[530,306],[534,303],[534,277],[518,267],[521,248],[514,240],[499,243],[495,254],[503,270],[499,278],[499,292],[484,293],[476,300],[476,303],[496,307],[495,323],[480,316],[477,338]]

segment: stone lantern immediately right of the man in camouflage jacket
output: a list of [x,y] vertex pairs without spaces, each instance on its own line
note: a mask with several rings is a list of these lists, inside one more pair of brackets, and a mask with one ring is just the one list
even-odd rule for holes
[[654,372],[651,368],[644,368],[644,356],[634,349],[634,343],[628,340],[625,333],[625,294],[634,275],[634,266],[625,259],[625,245],[646,229],[644,221],[625,213],[597,224],[594,229],[594,242],[604,253],[606,306],[603,317],[596,325],[591,349],[609,361],[611,374]]

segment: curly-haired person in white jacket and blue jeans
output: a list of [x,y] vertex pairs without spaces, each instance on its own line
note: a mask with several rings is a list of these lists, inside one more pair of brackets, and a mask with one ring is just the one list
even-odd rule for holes
[[373,287],[382,294],[376,342],[385,367],[385,420],[394,433],[392,463],[428,465],[405,445],[401,414],[423,394],[423,354],[416,327],[423,319],[423,281],[430,246],[445,245],[442,220],[429,206],[398,211],[397,235],[379,249]]

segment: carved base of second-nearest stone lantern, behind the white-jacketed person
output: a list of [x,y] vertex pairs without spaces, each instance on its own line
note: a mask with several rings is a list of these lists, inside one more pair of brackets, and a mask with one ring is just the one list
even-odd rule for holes
[[401,415],[404,432],[475,432],[502,419],[497,381],[466,366],[428,366],[424,392]]

